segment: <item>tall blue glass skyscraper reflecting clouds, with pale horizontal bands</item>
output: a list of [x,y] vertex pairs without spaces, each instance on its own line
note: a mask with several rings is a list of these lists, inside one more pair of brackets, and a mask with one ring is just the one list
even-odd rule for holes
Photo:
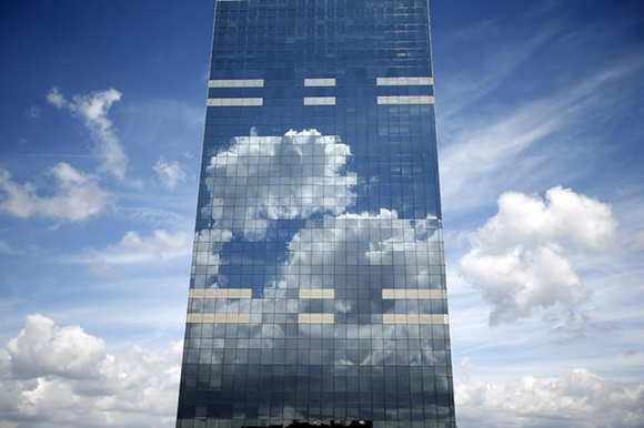
[[219,0],[178,427],[454,427],[427,0]]

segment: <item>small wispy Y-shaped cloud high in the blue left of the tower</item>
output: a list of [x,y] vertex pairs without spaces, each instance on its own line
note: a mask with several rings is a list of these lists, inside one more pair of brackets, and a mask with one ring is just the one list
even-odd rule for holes
[[114,133],[112,121],[108,118],[112,104],[120,101],[121,95],[115,89],[108,89],[73,95],[71,101],[68,101],[58,88],[52,88],[47,94],[47,101],[58,109],[69,110],[84,122],[97,142],[94,155],[100,162],[99,171],[122,181],[128,170],[128,156]]

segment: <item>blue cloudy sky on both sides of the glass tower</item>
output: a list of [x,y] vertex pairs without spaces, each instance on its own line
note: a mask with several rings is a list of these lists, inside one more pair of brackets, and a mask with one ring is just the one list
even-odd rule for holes
[[[0,3],[0,427],[173,426],[211,1]],[[644,4],[433,0],[460,427],[644,426]]]

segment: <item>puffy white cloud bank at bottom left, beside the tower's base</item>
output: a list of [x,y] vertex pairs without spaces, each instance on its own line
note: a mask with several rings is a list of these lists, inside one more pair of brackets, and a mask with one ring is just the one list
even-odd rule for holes
[[0,356],[0,425],[170,426],[180,358],[180,346],[111,355],[81,327],[31,315]]

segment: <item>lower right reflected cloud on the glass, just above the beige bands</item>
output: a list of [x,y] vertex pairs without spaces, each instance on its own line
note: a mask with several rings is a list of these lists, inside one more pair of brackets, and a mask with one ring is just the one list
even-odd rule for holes
[[439,288],[440,248],[435,220],[399,218],[386,208],[329,216],[311,221],[293,236],[278,286],[326,288],[359,282],[364,288]]

